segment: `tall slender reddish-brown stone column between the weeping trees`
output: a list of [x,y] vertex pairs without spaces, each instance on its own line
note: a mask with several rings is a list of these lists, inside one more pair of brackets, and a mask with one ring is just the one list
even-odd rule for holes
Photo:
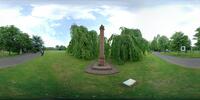
[[104,55],[104,26],[101,25],[100,28],[100,47],[99,47],[99,66],[105,65],[105,55]]

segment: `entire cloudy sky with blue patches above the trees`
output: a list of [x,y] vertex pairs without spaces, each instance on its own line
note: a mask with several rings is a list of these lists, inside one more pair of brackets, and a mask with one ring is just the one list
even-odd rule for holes
[[179,31],[192,40],[200,27],[200,0],[0,0],[0,26],[41,36],[47,47],[67,46],[72,24],[98,34],[103,24],[107,38],[127,27],[140,29],[148,41]]

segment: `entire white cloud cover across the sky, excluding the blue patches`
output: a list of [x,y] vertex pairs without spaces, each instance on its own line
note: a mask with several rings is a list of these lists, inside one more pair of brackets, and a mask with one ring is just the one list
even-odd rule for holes
[[[20,12],[21,7],[0,6],[0,26],[16,25],[22,31],[30,35],[41,36],[46,46],[66,44],[69,40],[60,41],[55,36],[55,27],[61,24],[56,20],[66,18],[68,20],[90,19],[96,21],[93,12],[105,16],[108,24],[105,25],[105,36],[120,33],[119,27],[139,28],[147,40],[152,40],[157,34],[171,37],[176,31],[182,31],[193,38],[194,31],[200,26],[200,7],[182,5],[162,5],[140,8],[137,11],[122,6],[74,6],[74,5],[32,5],[30,15],[24,16]],[[104,22],[102,22],[104,23]],[[99,32],[99,26],[90,26]],[[194,43],[194,41],[193,41]]]

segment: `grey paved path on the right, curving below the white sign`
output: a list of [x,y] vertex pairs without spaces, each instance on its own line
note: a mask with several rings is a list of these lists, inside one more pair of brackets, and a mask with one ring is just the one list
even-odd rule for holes
[[188,68],[200,68],[200,58],[180,58],[168,55],[161,55],[159,52],[153,52],[154,55],[170,63],[181,65]]

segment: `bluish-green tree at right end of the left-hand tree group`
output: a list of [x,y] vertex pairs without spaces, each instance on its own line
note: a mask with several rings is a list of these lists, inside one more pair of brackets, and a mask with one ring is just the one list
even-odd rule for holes
[[33,36],[32,37],[32,50],[33,52],[38,52],[40,51],[44,46],[43,46],[44,42],[41,39],[40,36]]

